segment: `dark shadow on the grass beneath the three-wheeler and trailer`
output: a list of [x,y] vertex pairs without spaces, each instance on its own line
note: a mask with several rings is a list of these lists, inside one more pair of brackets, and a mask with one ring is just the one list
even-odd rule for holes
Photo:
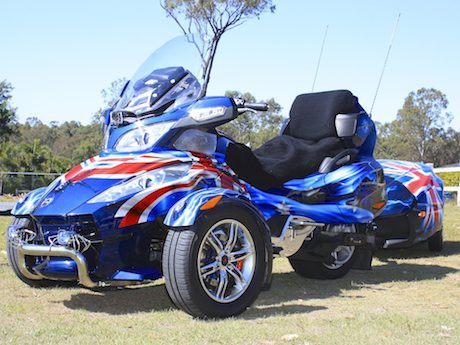
[[[302,278],[294,272],[275,273],[270,291],[260,294],[256,303],[240,318],[258,319],[271,316],[310,313],[325,310],[325,306],[303,304],[309,299],[327,299],[329,297],[364,298],[359,293],[344,296],[344,291],[361,289],[387,290],[382,287],[386,282],[411,282],[444,278],[455,268],[439,265],[412,263],[398,264],[388,260],[372,271],[352,270],[337,280],[313,280]],[[302,303],[300,303],[302,302]],[[138,312],[162,311],[174,308],[166,294],[164,285],[83,292],[72,295],[64,305],[70,309],[87,310],[95,313],[125,315]]]

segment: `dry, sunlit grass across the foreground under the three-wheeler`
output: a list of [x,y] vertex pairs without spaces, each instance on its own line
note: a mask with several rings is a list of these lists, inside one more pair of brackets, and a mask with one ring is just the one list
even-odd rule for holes
[[194,320],[164,284],[118,291],[31,289],[8,267],[0,218],[2,344],[460,344],[460,209],[448,205],[445,250],[384,251],[372,271],[303,279],[275,261],[273,286],[237,318]]

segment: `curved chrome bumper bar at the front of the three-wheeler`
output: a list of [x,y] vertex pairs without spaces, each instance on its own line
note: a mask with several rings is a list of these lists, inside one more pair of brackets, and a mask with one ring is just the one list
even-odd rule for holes
[[23,244],[18,246],[17,248],[18,254],[18,265],[19,271],[26,277],[27,279],[31,280],[40,280],[44,277],[32,273],[26,264],[26,255],[30,256],[59,256],[59,257],[68,257],[75,261],[77,264],[78,269],[78,281],[83,286],[88,288],[94,287],[104,287],[110,284],[105,282],[95,282],[93,281],[88,272],[88,265],[86,263],[86,259],[82,253],[77,252],[75,250],[67,249],[63,246],[45,246],[45,245],[38,245],[38,244]]

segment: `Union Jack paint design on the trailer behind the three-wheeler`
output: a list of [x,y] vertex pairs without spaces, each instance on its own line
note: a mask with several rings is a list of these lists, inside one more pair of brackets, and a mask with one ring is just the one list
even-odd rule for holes
[[[421,163],[381,160],[385,176],[404,185],[417,200],[417,208],[423,215],[423,222],[417,234],[420,239],[429,237],[442,225],[443,184],[433,170]],[[391,188],[391,186],[387,186]],[[424,213],[423,213],[424,212]]]

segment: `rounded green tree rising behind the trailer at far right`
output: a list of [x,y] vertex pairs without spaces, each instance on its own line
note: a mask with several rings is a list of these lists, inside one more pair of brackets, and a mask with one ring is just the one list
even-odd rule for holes
[[452,121],[446,112],[447,97],[436,89],[421,88],[406,97],[398,111],[395,135],[408,146],[414,160],[428,161],[427,150],[433,134]]

